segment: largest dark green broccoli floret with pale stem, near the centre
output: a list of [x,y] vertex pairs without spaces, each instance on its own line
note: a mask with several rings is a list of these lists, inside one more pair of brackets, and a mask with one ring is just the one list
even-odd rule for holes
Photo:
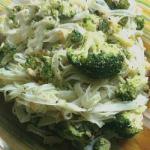
[[107,78],[117,75],[124,64],[121,49],[114,44],[101,43],[101,37],[94,39],[91,36],[93,42],[87,38],[85,37],[85,43],[80,48],[68,48],[69,62],[91,77]]

